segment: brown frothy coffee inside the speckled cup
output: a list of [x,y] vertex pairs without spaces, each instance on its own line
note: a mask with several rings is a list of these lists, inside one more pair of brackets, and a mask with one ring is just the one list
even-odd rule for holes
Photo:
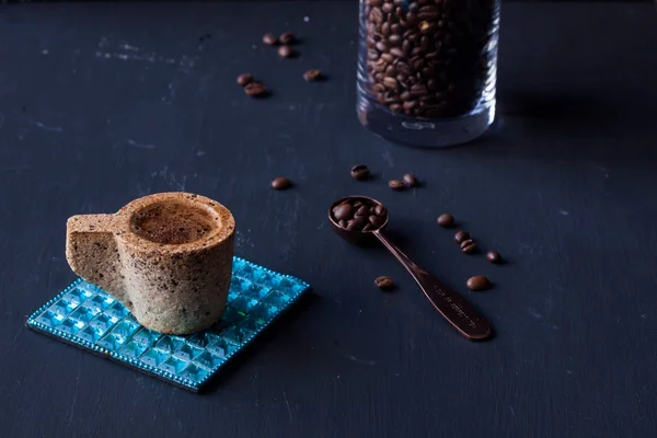
[[135,214],[130,221],[130,229],[140,238],[173,245],[201,240],[218,226],[205,208],[175,200],[150,205]]

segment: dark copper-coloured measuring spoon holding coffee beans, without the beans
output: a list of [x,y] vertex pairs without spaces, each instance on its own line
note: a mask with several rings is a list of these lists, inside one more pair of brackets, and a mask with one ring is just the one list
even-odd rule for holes
[[[334,211],[336,207],[346,201],[351,205],[356,201],[361,201],[364,205],[370,207],[382,206],[383,212],[377,215],[381,220],[374,220],[379,226],[367,231],[359,229],[361,227],[348,230],[344,227],[345,222],[343,222],[343,227],[341,227],[339,221],[334,217]],[[470,306],[457,291],[443,285],[431,274],[417,266],[406,254],[396,247],[385,234],[383,234],[383,229],[388,226],[389,218],[390,215],[385,206],[367,196],[347,196],[333,203],[328,209],[328,220],[331,221],[333,230],[345,240],[361,245],[376,243],[377,240],[381,242],[392,255],[400,261],[406,270],[408,270],[408,274],[417,281],[417,285],[431,304],[434,304],[436,310],[445,316],[459,333],[469,339],[484,339],[488,337],[491,335],[491,325],[486,322],[484,316],[474,310],[474,308],[472,308],[472,306]],[[371,223],[368,228],[370,227],[372,227]]]

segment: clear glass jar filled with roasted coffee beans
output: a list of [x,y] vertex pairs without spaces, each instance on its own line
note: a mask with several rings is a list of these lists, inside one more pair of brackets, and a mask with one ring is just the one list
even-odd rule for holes
[[495,118],[499,0],[360,0],[360,123],[392,141],[470,141]]

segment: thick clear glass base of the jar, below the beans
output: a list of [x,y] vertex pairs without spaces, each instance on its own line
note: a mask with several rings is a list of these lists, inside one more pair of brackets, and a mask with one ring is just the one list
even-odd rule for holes
[[486,132],[495,119],[495,100],[465,115],[440,119],[394,114],[367,99],[360,101],[357,111],[360,124],[387,140],[417,148],[446,148],[466,143]]

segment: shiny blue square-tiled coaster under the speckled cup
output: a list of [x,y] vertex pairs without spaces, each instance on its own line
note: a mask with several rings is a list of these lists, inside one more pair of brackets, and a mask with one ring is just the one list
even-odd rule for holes
[[309,285],[233,258],[221,321],[187,336],[141,326],[103,289],[79,278],[27,319],[27,326],[197,392],[228,360],[285,312]]

